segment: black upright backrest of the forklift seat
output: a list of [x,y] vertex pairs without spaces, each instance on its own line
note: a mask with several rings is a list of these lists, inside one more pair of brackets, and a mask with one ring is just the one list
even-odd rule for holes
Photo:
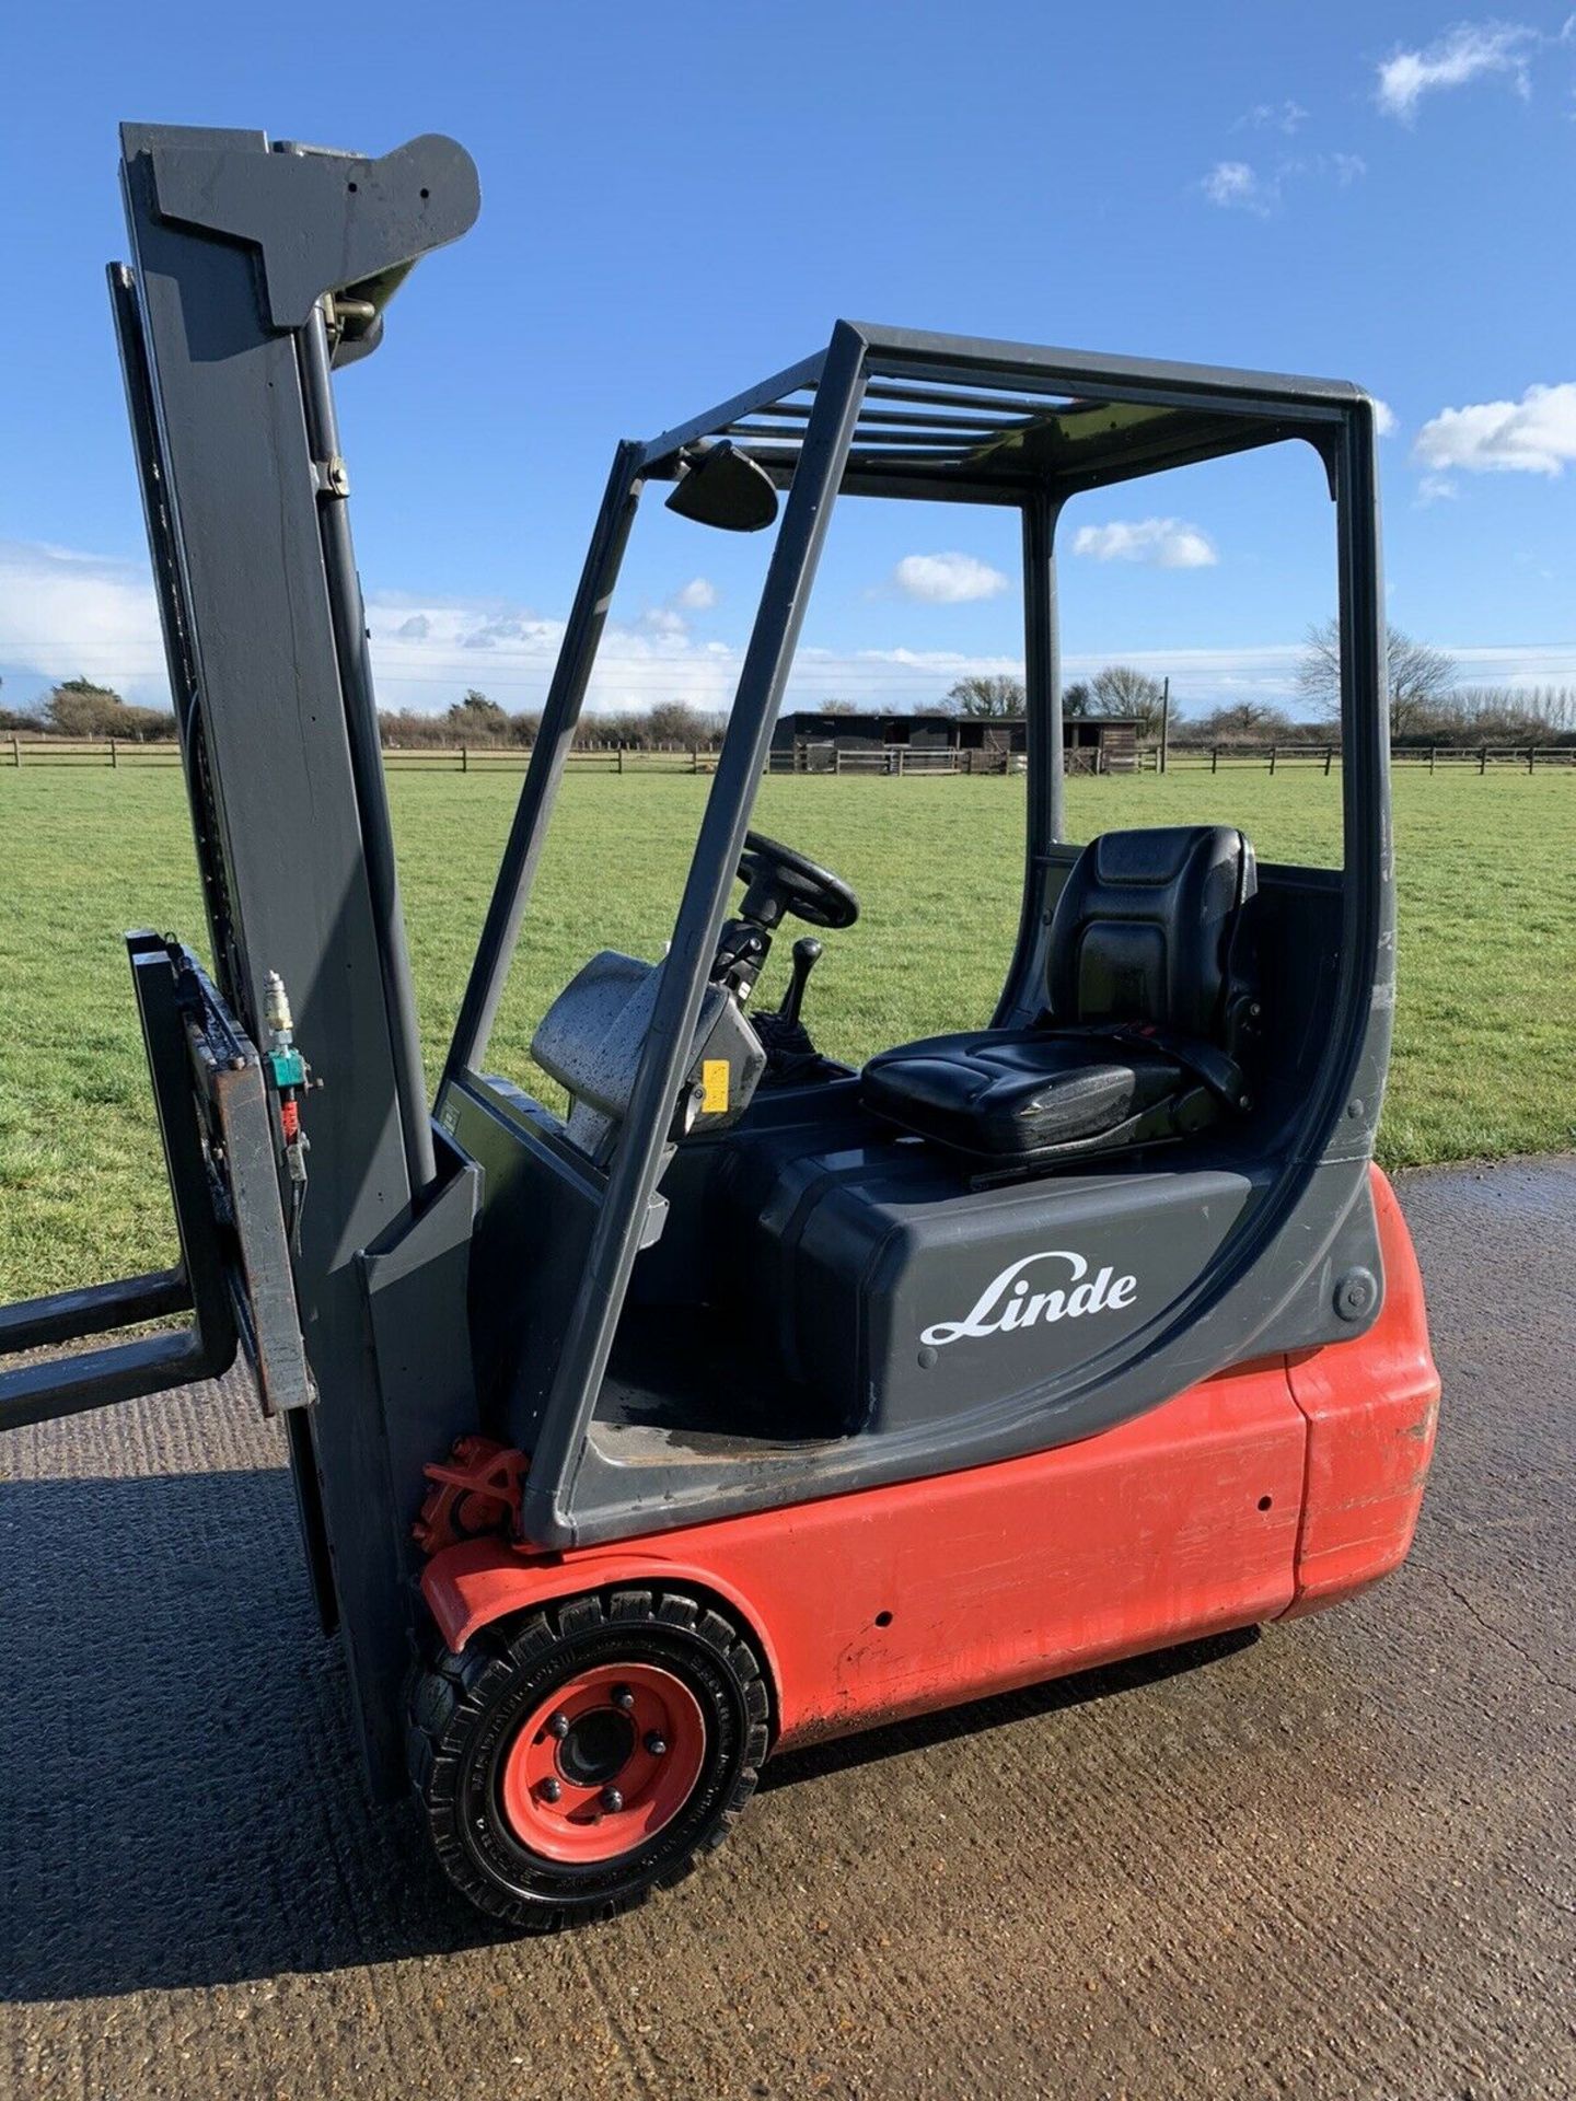
[[1053,1021],[1147,1021],[1219,1044],[1257,887],[1252,847],[1227,824],[1091,838],[1051,920]]

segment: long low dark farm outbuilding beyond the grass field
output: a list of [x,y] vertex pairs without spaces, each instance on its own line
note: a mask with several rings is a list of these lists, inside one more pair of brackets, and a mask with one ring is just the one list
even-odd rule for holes
[[[1067,716],[1061,744],[1070,773],[1133,773],[1139,763],[1139,725],[1128,716]],[[1007,771],[1023,750],[1021,714],[815,714],[796,708],[777,716],[771,737],[773,767],[796,773],[832,773],[843,761],[870,767],[897,752],[937,769],[950,754],[969,754],[969,771]]]

